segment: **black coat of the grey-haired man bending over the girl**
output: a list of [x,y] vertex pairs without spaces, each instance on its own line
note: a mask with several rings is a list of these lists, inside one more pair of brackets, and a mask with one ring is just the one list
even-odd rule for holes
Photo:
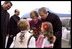
[[56,36],[56,42],[54,47],[60,48],[61,47],[61,37],[62,37],[62,22],[60,21],[59,17],[48,11],[48,16],[45,20],[42,19],[42,22],[48,21],[51,22],[53,25],[54,35]]

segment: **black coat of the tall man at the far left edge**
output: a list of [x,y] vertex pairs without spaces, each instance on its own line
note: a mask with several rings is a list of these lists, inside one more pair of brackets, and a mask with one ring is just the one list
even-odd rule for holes
[[[1,36],[3,40],[3,45],[5,45],[5,38],[8,31],[9,13],[1,7]],[[2,43],[2,42],[1,42]],[[4,46],[3,46],[4,47]]]

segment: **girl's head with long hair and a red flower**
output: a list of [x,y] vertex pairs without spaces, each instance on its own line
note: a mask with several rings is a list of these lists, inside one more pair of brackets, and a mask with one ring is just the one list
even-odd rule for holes
[[47,37],[52,37],[53,35],[53,26],[50,22],[43,22],[43,29],[44,29],[44,35],[46,35]]

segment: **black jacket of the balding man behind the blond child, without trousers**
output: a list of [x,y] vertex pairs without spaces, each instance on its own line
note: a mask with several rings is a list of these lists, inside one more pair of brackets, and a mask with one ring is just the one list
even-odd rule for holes
[[17,22],[20,20],[19,16],[13,15],[9,21],[9,34],[16,35],[20,30],[17,26]]

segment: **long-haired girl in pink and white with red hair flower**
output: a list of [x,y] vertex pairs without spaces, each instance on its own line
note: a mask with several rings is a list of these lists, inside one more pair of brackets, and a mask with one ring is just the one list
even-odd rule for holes
[[41,25],[41,34],[36,41],[37,48],[53,48],[56,37],[53,35],[53,27],[50,22],[43,22]]

